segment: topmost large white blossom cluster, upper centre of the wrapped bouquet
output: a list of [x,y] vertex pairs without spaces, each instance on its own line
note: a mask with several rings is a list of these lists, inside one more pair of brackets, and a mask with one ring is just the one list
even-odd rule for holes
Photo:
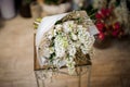
[[74,21],[67,21],[67,22],[63,23],[63,28],[64,28],[65,33],[72,32],[75,26],[76,25],[74,24]]

